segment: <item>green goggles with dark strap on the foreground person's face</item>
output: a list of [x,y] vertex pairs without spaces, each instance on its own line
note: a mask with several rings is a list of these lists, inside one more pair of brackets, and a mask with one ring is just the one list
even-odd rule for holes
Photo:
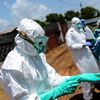
[[32,46],[34,46],[38,54],[46,51],[46,44],[48,41],[47,36],[37,36],[34,39],[34,42],[24,32],[19,33],[19,36],[28,41]]

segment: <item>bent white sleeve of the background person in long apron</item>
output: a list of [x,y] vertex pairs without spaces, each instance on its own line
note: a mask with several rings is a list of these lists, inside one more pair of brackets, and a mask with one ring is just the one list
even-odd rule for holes
[[66,44],[68,45],[68,47],[70,49],[79,50],[83,47],[83,44],[78,43],[78,42],[75,41],[75,39],[71,35],[71,33],[67,33],[65,39],[66,39]]

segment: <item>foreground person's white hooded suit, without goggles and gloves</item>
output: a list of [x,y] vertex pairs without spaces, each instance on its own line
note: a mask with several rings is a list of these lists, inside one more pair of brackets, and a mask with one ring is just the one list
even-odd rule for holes
[[[17,30],[26,32],[32,40],[45,34],[41,26],[29,19],[23,19]],[[69,79],[69,76],[57,74],[46,62],[44,53],[38,54],[19,34],[15,42],[16,47],[8,54],[0,73],[10,100],[40,100],[38,95]]]

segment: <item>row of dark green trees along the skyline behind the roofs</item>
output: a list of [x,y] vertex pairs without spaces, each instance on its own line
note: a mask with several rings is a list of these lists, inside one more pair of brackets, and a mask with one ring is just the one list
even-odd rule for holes
[[50,13],[46,16],[44,22],[36,20],[41,26],[45,27],[48,22],[66,22],[71,21],[73,17],[79,17],[83,19],[91,19],[100,16],[100,11],[91,6],[82,8],[80,11],[69,10],[63,14]]

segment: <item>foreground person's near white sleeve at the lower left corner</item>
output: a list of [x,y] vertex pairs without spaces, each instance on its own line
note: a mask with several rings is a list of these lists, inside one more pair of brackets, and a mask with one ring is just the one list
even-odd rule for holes
[[3,69],[2,73],[4,87],[11,100],[40,100],[36,93],[29,94],[27,80],[21,72]]

